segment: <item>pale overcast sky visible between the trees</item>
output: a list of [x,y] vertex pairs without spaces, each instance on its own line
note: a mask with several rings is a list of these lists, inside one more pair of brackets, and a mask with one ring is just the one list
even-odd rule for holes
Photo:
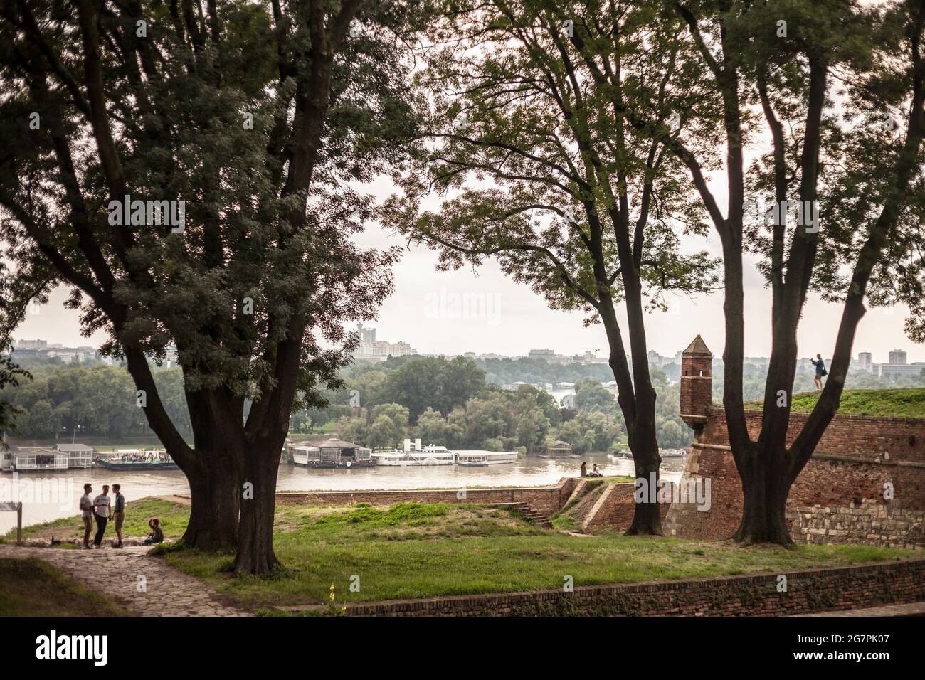
[[[722,205],[726,200],[722,181],[714,178],[710,186]],[[392,187],[380,180],[368,191],[384,199]],[[436,199],[428,201],[428,207],[436,205]],[[824,223],[821,227],[824,231]],[[608,352],[599,324],[585,327],[581,314],[550,310],[527,286],[506,278],[493,261],[475,271],[465,266],[459,271],[439,272],[437,253],[420,246],[408,249],[401,236],[387,229],[371,225],[358,241],[364,247],[405,248],[394,270],[395,291],[380,308],[378,318],[365,324],[376,328],[376,340],[404,340],[425,354],[497,352],[517,356],[539,348],[563,354],[584,353],[586,349],[597,350],[601,356]],[[683,247],[720,255],[719,240],[712,231],[709,239],[684,240]],[[754,260],[746,260],[745,287],[746,356],[767,356],[771,348],[771,291],[764,287]],[[62,306],[66,297],[67,291],[57,290],[49,304],[27,316],[14,338],[43,339],[66,346],[98,345],[103,334],[89,341],[80,337],[77,313]],[[722,291],[693,299],[680,296],[668,312],[649,315],[648,347],[670,356],[699,333],[713,354],[722,356],[722,299]],[[810,295],[799,326],[799,356],[815,356],[817,352],[825,358],[832,356],[841,312],[841,305],[823,303]],[[906,315],[905,306],[870,309],[857,329],[853,355],[873,352],[874,362],[886,363],[887,352],[899,348],[908,352],[910,363],[925,361],[925,348],[913,344],[903,332]],[[628,347],[624,319],[622,328]]]

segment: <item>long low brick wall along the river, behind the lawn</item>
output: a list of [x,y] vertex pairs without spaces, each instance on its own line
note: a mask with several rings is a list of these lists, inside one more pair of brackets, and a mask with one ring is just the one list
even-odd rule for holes
[[283,491],[277,493],[277,503],[281,505],[350,505],[352,503],[392,505],[403,502],[525,502],[534,510],[550,514],[565,504],[572,495],[577,482],[576,477],[562,477],[553,487],[467,488],[464,496],[460,493],[462,489],[456,488],[412,488],[395,491]]

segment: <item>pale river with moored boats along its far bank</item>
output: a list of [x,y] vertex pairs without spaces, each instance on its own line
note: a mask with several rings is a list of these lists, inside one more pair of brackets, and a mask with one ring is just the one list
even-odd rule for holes
[[[277,477],[279,491],[348,490],[370,488],[461,488],[461,487],[539,487],[558,482],[563,476],[576,476],[581,461],[590,470],[597,463],[604,475],[634,476],[633,462],[611,458],[607,453],[591,453],[582,459],[522,458],[511,464],[465,467],[426,465],[414,467],[378,466],[356,470],[312,469],[282,464]],[[661,464],[662,476],[677,480],[684,469],[684,458],[668,458]],[[22,524],[32,525],[75,515],[83,485],[93,484],[93,494],[104,484],[118,482],[126,501],[145,496],[187,494],[190,488],[179,470],[146,472],[139,470],[115,476],[112,470],[64,470],[56,473],[0,473],[0,501],[22,501]],[[0,513],[0,534],[16,526],[16,513]]]

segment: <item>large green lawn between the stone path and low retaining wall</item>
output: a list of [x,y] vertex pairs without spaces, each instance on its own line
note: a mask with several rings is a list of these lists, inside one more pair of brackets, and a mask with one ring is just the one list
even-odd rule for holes
[[[531,525],[504,510],[450,503],[351,508],[280,506],[275,546],[285,567],[234,577],[232,557],[164,550],[175,567],[207,581],[242,607],[323,604],[631,583],[892,560],[919,553],[855,546],[796,550],[681,538],[577,538]],[[351,576],[360,591],[351,592]],[[355,579],[354,579],[355,581]]]

